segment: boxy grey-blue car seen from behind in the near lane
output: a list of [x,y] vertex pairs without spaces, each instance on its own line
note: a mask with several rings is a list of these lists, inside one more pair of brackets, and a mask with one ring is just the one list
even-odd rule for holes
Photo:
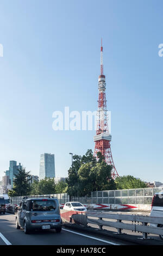
[[25,234],[36,229],[61,231],[62,220],[58,199],[23,198],[16,215],[16,228],[24,229]]

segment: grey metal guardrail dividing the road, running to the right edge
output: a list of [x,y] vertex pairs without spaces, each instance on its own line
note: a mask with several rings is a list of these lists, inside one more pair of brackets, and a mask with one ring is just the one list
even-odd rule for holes
[[[85,215],[85,220],[83,220],[81,224],[84,224],[84,225],[87,225],[88,223],[96,224],[99,226],[100,230],[103,229],[103,226],[108,226],[108,227],[112,227],[112,228],[117,228],[118,234],[122,234],[122,229],[132,230],[135,232],[139,231],[142,233],[143,239],[147,239],[148,234],[163,235],[163,228],[151,227],[150,225],[148,225],[148,223],[149,224],[155,223],[155,224],[163,225],[162,217],[150,217],[150,216],[142,216],[142,215],[108,214],[108,213],[99,213],[99,212],[86,212],[84,215]],[[93,218],[90,218],[90,217],[93,217]],[[95,218],[98,218],[98,220]],[[110,220],[117,220],[117,222],[103,220],[103,218],[110,219]],[[79,219],[81,220],[80,216],[79,216]],[[77,218],[76,218],[76,220],[77,220]],[[131,221],[132,223],[123,223],[122,221]],[[140,222],[142,224],[139,224]]]

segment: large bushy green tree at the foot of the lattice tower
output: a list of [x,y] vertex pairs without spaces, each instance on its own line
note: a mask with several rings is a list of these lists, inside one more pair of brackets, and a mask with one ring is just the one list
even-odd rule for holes
[[68,170],[67,193],[70,196],[85,196],[91,191],[114,190],[115,182],[111,178],[111,166],[108,166],[102,154],[98,153],[98,162],[92,150],[86,154],[73,156],[73,164]]

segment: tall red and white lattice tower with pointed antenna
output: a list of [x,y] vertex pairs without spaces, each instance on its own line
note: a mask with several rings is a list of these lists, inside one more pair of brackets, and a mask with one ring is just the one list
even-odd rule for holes
[[111,135],[108,129],[108,112],[106,110],[106,83],[103,74],[103,46],[101,41],[101,74],[98,77],[98,110],[97,110],[97,131],[93,137],[95,142],[94,156],[98,159],[97,153],[101,152],[105,158],[105,162],[112,166],[111,176],[115,179],[118,175],[112,160],[110,142]]

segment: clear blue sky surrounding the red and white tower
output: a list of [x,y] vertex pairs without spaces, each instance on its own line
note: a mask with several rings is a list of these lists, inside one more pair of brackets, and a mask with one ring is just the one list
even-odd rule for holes
[[0,178],[10,160],[39,175],[41,153],[66,176],[95,131],[54,131],[54,111],[95,111],[103,37],[112,155],[120,175],[162,177],[163,2],[1,0]]

